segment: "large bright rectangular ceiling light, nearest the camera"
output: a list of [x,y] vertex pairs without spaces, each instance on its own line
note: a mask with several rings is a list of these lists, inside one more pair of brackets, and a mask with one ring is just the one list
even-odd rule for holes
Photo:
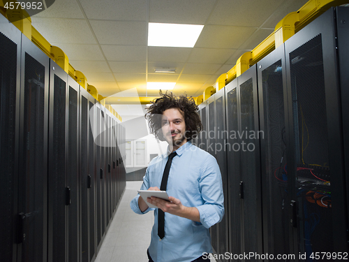
[[149,23],[148,46],[193,48],[202,28],[200,24]]

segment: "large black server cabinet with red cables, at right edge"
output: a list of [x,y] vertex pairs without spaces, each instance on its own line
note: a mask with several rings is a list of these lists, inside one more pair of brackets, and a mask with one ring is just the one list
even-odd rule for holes
[[[348,52],[348,27],[343,23],[348,18],[348,9],[332,8],[285,42],[290,126],[286,171],[292,175],[295,254],[305,256],[296,256],[296,261],[327,259],[312,257],[313,252],[348,252],[348,171],[343,158],[348,133],[341,122],[342,114],[348,118],[341,108],[348,103],[348,97],[341,96],[348,83],[341,82],[343,71],[339,74],[339,68],[348,65],[338,58]],[[337,35],[342,30],[343,38]],[[341,51],[340,38],[346,42]]]

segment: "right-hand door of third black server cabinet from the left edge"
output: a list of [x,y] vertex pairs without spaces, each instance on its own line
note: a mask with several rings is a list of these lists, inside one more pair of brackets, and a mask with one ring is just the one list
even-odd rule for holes
[[[84,90],[82,90],[84,91]],[[82,92],[82,95],[84,92]],[[89,175],[91,176],[91,184],[89,187],[89,259],[94,261],[96,259],[96,246],[97,246],[97,184],[98,173],[96,173],[96,143],[94,133],[96,133],[96,100],[89,96]]]

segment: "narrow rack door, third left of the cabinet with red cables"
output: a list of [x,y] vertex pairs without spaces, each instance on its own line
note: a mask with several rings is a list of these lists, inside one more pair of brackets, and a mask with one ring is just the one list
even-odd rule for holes
[[240,182],[240,140],[239,105],[237,96],[237,78],[225,86],[225,116],[227,131],[227,173],[228,173],[228,233],[229,252],[243,254],[242,245],[242,200]]

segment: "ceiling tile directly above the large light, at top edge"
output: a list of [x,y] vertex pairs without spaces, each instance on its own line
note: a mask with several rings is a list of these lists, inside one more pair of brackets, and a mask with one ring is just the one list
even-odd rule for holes
[[205,24],[213,7],[211,0],[150,0],[149,22]]

